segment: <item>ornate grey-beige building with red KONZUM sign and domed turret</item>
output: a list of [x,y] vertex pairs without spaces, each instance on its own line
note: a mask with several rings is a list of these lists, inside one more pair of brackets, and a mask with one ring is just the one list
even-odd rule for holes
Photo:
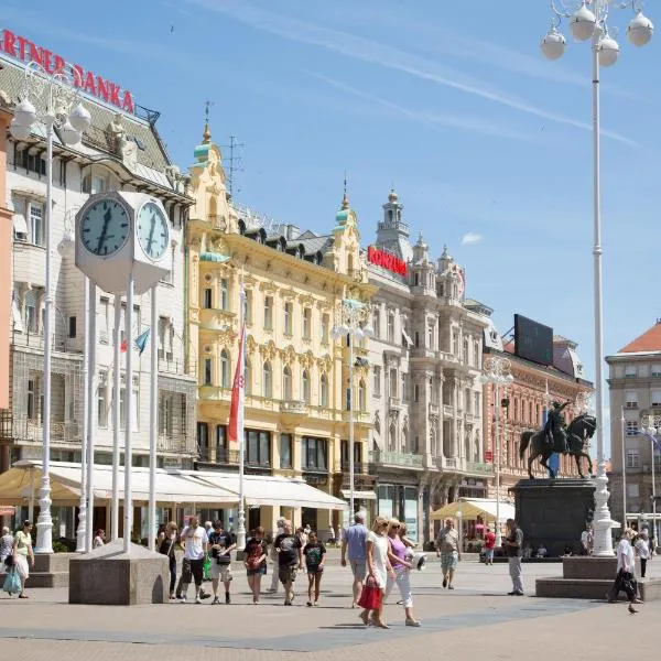
[[465,272],[447,248],[434,261],[411,245],[391,191],[367,250],[375,337],[370,465],[377,510],[433,539],[430,513],[460,496],[487,494],[481,356],[491,310],[465,296]]

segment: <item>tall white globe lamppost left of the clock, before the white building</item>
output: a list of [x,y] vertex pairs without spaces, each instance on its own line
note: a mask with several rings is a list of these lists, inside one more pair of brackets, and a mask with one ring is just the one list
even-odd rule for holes
[[42,485],[36,520],[36,553],[53,553],[53,518],[51,516],[51,353],[53,347],[53,132],[65,144],[77,144],[89,128],[91,117],[80,102],[76,87],[79,75],[69,65],[51,74],[31,62],[25,66],[25,77],[14,117],[9,130],[17,140],[30,140],[32,129],[43,124],[46,134],[46,291],[44,306],[44,403],[42,421]]

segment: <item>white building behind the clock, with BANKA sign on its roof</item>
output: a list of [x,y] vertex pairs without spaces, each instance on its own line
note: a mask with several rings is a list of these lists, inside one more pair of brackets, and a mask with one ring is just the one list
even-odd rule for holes
[[[8,36],[9,34],[9,36]],[[10,39],[13,37],[13,39]],[[23,43],[30,43],[20,37]],[[0,121],[11,119],[20,94],[24,65],[30,53],[45,57],[44,48],[20,50],[19,37],[2,32],[0,43]],[[50,53],[50,52],[48,52]],[[41,54],[41,55],[40,55]],[[55,57],[52,53],[51,59]],[[53,61],[54,62],[54,61]],[[82,68],[82,67],[78,67]],[[86,79],[89,78],[86,73]],[[98,83],[100,77],[89,78]],[[83,434],[83,350],[84,277],[74,261],[75,215],[88,196],[106,191],[139,191],[149,193],[163,203],[170,217],[171,274],[159,285],[159,327],[151,329],[145,354],[136,359],[133,383],[126,383],[123,366],[121,388],[112,389],[112,351],[115,297],[98,290],[97,299],[97,369],[95,410],[96,463],[110,464],[112,448],[113,398],[120,403],[120,434],[123,436],[123,402],[130,397],[134,403],[133,462],[147,465],[149,459],[149,353],[154,346],[159,353],[159,438],[158,452],[161,465],[193,467],[195,444],[195,365],[186,361],[184,345],[185,316],[181,291],[185,283],[184,227],[192,199],[186,195],[185,181],[171,163],[155,128],[158,112],[141,109],[131,104],[117,107],[113,99],[102,98],[102,90],[110,83],[101,79],[82,89],[83,101],[91,113],[91,126],[78,144],[67,147],[57,134],[53,145],[53,208],[50,229],[45,225],[46,199],[46,143],[45,131],[35,124],[26,140],[15,140],[1,130],[0,147],[6,154],[0,159],[0,184],[7,169],[4,196],[0,215],[11,209],[11,236],[0,241],[0,288],[7,295],[6,269],[11,269],[11,293],[7,304],[8,323],[0,324],[0,333],[9,329],[9,342],[0,338],[0,347],[9,346],[9,369],[2,370],[8,379],[0,387],[0,394],[9,389],[9,401],[0,397],[0,447],[1,468],[19,459],[41,459],[43,369],[44,369],[44,300],[45,300],[45,245],[46,231],[52,234],[52,282],[54,311],[52,319],[52,436],[51,458],[54,462],[80,462]],[[117,88],[117,86],[115,86]],[[128,94],[128,93],[126,93]],[[122,93],[122,98],[127,98]],[[33,99],[34,102],[35,99]],[[37,111],[42,111],[37,105]],[[134,110],[136,112],[131,112]],[[7,136],[7,137],[6,137]],[[8,227],[2,224],[2,227]],[[4,229],[2,229],[4,231]],[[13,259],[7,259],[12,250]],[[2,257],[3,256],[3,257]],[[121,324],[126,302],[120,303]],[[149,294],[134,300],[134,334],[144,332],[150,324]],[[123,334],[122,334],[123,335]],[[3,336],[4,337],[4,336]],[[0,366],[6,365],[4,357]],[[123,438],[120,441],[123,443]],[[56,467],[52,467],[56,479]],[[32,511],[29,512],[32,518]],[[74,508],[54,508],[59,523],[57,537],[74,537]],[[137,527],[143,518],[137,508]],[[95,527],[105,528],[106,506],[95,510]],[[143,533],[145,527],[143,525]]]

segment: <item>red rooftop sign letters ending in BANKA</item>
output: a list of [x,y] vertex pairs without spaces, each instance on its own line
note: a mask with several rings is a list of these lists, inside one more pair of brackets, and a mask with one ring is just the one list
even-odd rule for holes
[[[0,53],[4,53],[14,59],[21,62],[34,62],[39,64],[48,74],[56,74],[66,67],[66,62],[63,57],[37,46],[24,36],[14,34],[10,30],[2,31],[2,41],[0,42]],[[71,71],[73,83],[85,93],[107,104],[124,110],[133,112],[133,97],[127,89],[122,89],[120,85],[97,76],[94,72],[84,69],[79,64],[74,64]]]

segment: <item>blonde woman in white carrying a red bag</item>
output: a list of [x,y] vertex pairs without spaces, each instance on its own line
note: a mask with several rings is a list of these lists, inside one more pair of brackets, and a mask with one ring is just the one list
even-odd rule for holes
[[[358,606],[362,607],[362,613],[359,615],[362,624],[367,627],[371,621],[375,627],[379,627],[380,629],[390,629],[383,621],[383,593],[388,575],[394,578],[394,572],[388,560],[387,530],[388,519],[377,517],[372,523],[371,531],[367,534],[365,554],[367,557],[368,576],[358,602]],[[370,611],[371,618],[369,617]]]

